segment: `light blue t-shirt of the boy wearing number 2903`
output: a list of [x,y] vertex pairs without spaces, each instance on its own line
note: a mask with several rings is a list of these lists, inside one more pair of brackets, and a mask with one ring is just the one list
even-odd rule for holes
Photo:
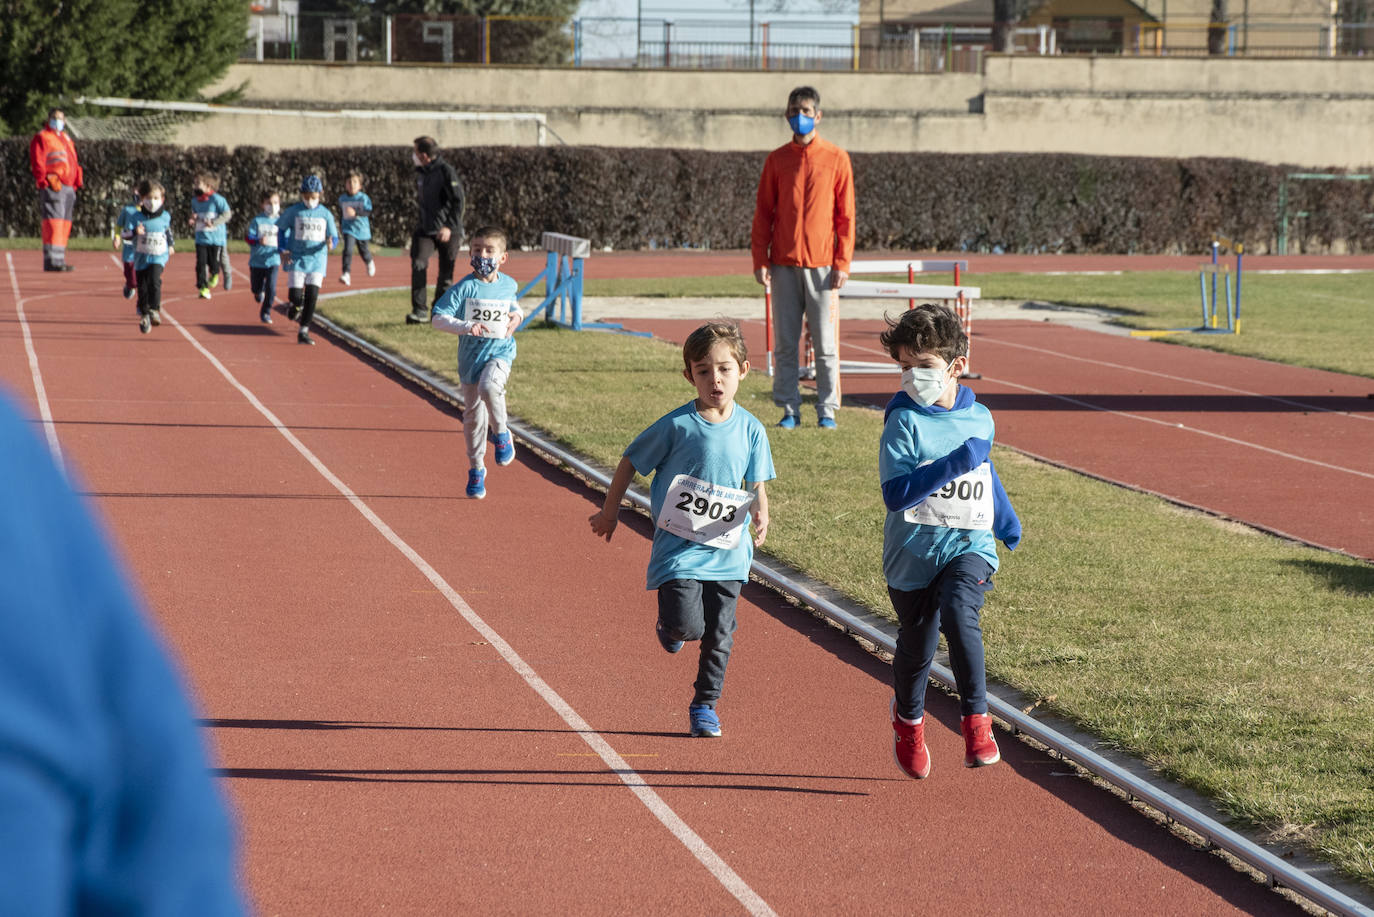
[[[727,419],[709,423],[697,412],[697,401],[688,401],[636,436],[625,450],[625,458],[640,474],[654,476],[649,492],[654,520],[658,520],[669,485],[679,474],[736,489],[743,488],[745,481],[774,478],[772,450],[764,425],[739,404],[734,406]],[[739,544],[732,549],[698,544],[655,527],[646,588],[658,588],[675,579],[747,580],[749,565],[754,560],[750,518],[752,514],[746,514]]]

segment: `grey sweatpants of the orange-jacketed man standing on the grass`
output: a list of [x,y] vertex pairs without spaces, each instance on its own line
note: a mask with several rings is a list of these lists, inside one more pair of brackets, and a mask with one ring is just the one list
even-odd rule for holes
[[816,415],[834,417],[840,407],[840,342],[835,338],[838,315],[830,305],[830,268],[801,268],[787,264],[768,265],[772,274],[774,404],[789,414],[801,412],[798,388],[798,352],[801,319],[811,326],[816,351]]

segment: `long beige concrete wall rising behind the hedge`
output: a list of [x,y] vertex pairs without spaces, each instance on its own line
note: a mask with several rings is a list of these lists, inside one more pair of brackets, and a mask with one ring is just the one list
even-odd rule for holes
[[[851,151],[1216,155],[1303,168],[1374,162],[1374,60],[988,58],[984,74],[537,70],[243,63],[207,93],[245,106],[537,111],[550,142],[769,150],[798,84],[820,89],[822,132]],[[513,122],[216,117],[183,142],[269,148],[528,144]]]

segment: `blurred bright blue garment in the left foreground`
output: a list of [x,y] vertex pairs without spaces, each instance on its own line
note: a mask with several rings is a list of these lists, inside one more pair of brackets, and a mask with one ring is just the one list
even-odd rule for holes
[[0,395],[0,914],[243,914],[181,679]]

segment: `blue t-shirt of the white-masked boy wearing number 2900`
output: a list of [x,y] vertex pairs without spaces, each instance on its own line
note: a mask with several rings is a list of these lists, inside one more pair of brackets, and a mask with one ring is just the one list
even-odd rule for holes
[[[948,411],[922,408],[910,399],[893,401],[878,445],[881,483],[944,458],[967,439],[992,441],[992,412],[963,386]],[[888,510],[882,527],[882,573],[888,586],[903,591],[925,588],[945,564],[960,554],[977,554],[998,569],[996,540],[991,531],[908,522],[905,513]]]

